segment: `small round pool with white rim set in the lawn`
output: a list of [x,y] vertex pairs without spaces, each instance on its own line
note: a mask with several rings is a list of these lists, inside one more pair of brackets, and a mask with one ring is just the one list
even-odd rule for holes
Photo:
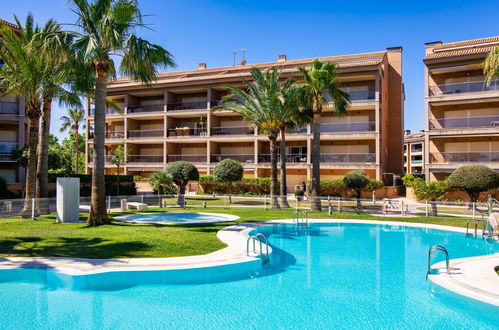
[[237,219],[239,219],[239,217],[235,215],[204,212],[150,212],[114,217],[114,220],[123,222],[155,224],[199,224],[227,222]]

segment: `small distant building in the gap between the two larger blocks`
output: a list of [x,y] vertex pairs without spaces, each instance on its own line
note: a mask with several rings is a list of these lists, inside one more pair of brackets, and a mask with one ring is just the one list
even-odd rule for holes
[[418,133],[404,131],[404,174],[424,176],[424,130]]

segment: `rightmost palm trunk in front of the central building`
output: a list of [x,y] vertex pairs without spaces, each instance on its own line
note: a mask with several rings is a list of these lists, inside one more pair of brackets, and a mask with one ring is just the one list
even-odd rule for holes
[[314,122],[312,125],[314,138],[312,141],[312,210],[321,211],[322,205],[319,198],[321,192],[321,114],[314,113]]

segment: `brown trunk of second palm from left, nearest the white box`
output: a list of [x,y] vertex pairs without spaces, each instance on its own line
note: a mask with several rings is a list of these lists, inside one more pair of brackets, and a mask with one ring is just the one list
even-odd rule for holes
[[49,135],[50,135],[50,117],[52,112],[52,98],[43,100],[42,105],[42,124],[41,132],[38,138],[38,168],[36,170],[36,197],[37,209],[41,214],[50,213],[49,205],[45,199],[48,197],[49,184]]

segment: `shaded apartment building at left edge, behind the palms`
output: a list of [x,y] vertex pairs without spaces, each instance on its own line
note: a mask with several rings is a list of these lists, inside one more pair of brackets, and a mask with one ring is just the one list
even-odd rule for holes
[[[0,20],[14,31],[15,24]],[[0,60],[0,67],[3,62]],[[22,148],[27,140],[28,119],[25,117],[24,99],[18,95],[0,97],[0,176],[7,183],[24,181],[24,168],[12,161],[12,151]]]

